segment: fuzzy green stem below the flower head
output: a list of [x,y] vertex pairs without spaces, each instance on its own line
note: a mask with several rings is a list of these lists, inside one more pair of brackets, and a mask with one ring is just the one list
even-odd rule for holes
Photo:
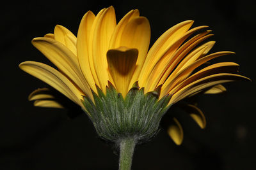
[[119,170],[131,170],[132,155],[136,145],[136,139],[125,138],[120,141]]

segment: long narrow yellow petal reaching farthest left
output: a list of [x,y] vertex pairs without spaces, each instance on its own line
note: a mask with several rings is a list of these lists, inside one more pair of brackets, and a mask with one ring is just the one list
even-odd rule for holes
[[84,96],[84,94],[80,92],[67,77],[56,69],[47,66],[46,64],[33,61],[22,62],[19,67],[26,73],[51,85],[51,87],[67,96],[70,100],[74,101],[74,103],[83,106],[80,100],[83,99],[82,96]]

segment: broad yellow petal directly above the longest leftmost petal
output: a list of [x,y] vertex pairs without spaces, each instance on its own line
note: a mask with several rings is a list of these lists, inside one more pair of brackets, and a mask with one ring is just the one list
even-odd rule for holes
[[50,38],[34,38],[33,45],[42,52],[47,59],[58,67],[61,73],[68,76],[87,95],[92,97],[92,92],[84,79],[78,64],[77,57],[60,42]]

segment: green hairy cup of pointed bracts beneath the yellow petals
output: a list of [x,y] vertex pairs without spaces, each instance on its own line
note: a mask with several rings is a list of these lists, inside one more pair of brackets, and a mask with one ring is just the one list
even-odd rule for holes
[[144,93],[135,82],[125,98],[109,82],[106,95],[97,87],[93,101],[84,96],[83,104],[100,138],[117,143],[134,138],[138,143],[148,141],[159,131],[159,122],[166,113],[171,96],[159,100],[161,86]]

